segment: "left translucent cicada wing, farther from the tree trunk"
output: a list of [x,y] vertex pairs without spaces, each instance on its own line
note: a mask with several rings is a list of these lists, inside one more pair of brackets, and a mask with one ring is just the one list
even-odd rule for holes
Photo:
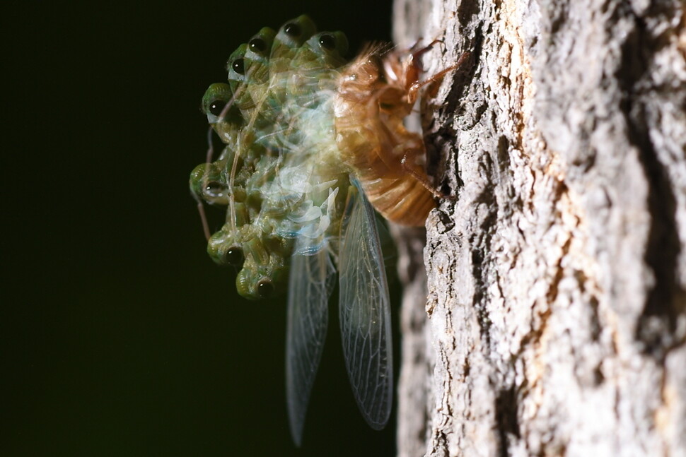
[[296,446],[326,339],[329,296],[336,270],[327,249],[291,256],[286,328],[286,401]]

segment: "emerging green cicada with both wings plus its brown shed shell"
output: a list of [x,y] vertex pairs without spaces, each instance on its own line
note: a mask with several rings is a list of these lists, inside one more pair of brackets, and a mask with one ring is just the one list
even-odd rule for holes
[[200,202],[227,208],[208,251],[239,268],[240,295],[288,295],[286,393],[298,445],[336,277],[354,396],[371,427],[388,422],[390,299],[373,207],[405,225],[422,225],[434,208],[422,138],[402,126],[422,85],[416,54],[372,46],[348,63],[347,47],[342,32],[317,33],[308,16],[241,44],[228,81],[202,100],[225,148],[190,179]]

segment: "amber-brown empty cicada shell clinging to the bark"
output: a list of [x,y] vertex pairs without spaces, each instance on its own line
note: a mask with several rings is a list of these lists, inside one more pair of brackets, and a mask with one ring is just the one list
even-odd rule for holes
[[341,160],[359,178],[374,208],[401,225],[424,225],[435,208],[422,167],[426,150],[422,137],[407,131],[403,119],[411,112],[412,83],[398,78],[395,52],[370,47],[351,62],[339,78],[335,126]]

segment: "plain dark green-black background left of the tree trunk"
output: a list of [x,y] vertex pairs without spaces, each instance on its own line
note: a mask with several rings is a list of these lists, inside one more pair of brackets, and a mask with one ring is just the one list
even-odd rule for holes
[[389,1],[281,3],[3,6],[1,455],[395,453],[395,410],[366,426],[335,321],[291,444],[284,303],[236,296],[187,190],[200,98],[240,42],[301,13],[351,52],[390,39]]

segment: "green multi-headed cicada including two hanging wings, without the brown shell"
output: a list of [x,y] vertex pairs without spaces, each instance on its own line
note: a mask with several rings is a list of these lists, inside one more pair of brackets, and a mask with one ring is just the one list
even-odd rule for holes
[[202,99],[225,148],[190,177],[199,201],[227,208],[208,251],[239,268],[240,295],[288,292],[286,391],[296,444],[336,277],[359,408],[380,429],[393,403],[390,304],[375,213],[337,144],[334,108],[342,72],[351,68],[342,57],[347,47],[342,32],[315,33],[307,16],[241,44],[228,59],[228,83],[211,85]]

